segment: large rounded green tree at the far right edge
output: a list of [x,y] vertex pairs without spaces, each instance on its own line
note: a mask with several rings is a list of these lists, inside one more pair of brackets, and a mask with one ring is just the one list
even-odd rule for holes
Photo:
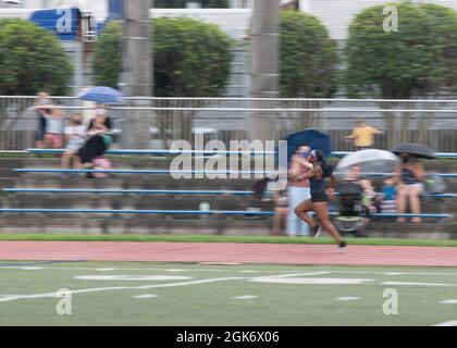
[[349,27],[348,94],[409,99],[455,87],[457,13],[436,4],[392,5],[398,10],[398,32],[384,30],[385,5],[366,9]]

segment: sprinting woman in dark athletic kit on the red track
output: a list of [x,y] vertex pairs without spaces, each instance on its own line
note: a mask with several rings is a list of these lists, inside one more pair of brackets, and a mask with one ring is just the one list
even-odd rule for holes
[[[308,178],[310,182],[311,198],[300,203],[295,209],[295,213],[311,227],[313,237],[318,237],[323,227],[338,244],[338,251],[343,251],[347,248],[347,244],[330,221],[329,214],[329,202],[330,199],[334,199],[336,184],[336,179],[333,176],[333,167],[326,163],[323,153],[316,150],[311,151],[309,163],[312,165],[312,170],[305,174],[302,178]],[[325,190],[324,184],[326,177],[331,178],[331,185]],[[308,213],[311,211],[316,213],[322,227],[309,216]]]

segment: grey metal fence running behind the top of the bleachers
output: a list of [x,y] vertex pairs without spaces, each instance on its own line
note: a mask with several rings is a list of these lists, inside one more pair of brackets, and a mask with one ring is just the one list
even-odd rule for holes
[[[0,97],[0,150],[35,146],[34,102],[34,97]],[[95,108],[76,98],[58,97],[52,102],[64,110],[66,120],[73,112],[88,120]],[[332,136],[334,150],[353,150],[346,136],[363,117],[383,130],[375,138],[376,148],[420,142],[437,152],[457,149],[457,100],[128,98],[126,104],[109,109],[116,147],[125,149],[166,149],[173,140],[193,141],[196,134],[228,146],[230,140],[251,139],[259,115],[275,140],[318,128]]]

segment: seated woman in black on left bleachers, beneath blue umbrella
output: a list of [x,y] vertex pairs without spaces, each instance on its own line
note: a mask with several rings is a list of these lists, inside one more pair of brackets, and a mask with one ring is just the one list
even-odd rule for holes
[[[88,140],[79,150],[78,154],[84,169],[94,169],[95,161],[108,151],[112,141],[111,120],[104,109],[97,112],[97,116],[87,128]],[[88,177],[92,177],[90,174]]]

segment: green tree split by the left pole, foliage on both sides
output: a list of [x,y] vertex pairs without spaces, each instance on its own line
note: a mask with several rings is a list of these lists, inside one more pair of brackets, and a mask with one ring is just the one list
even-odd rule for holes
[[[97,83],[115,87],[122,71],[122,28],[111,23],[100,36],[94,70]],[[218,97],[230,75],[231,38],[195,20],[153,21],[157,97]]]

